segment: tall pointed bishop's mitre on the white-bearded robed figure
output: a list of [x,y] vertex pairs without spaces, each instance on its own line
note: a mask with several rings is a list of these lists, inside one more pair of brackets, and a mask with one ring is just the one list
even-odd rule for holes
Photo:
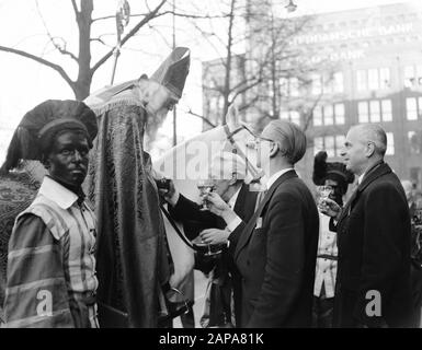
[[150,79],[166,86],[181,98],[190,66],[190,49],[186,47],[176,47]]

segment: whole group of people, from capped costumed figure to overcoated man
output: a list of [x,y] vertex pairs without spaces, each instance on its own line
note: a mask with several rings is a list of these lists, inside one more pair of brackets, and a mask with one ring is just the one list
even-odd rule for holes
[[318,153],[313,194],[295,171],[305,132],[273,120],[253,139],[260,190],[244,159],[220,152],[197,203],[172,179],[157,186],[142,145],[189,65],[176,48],[151,78],[23,117],[0,170],[2,326],[171,327],[166,202],[194,246],[214,248],[196,255],[203,327],[419,327],[420,208],[384,161],[383,128],[353,126],[342,163]]

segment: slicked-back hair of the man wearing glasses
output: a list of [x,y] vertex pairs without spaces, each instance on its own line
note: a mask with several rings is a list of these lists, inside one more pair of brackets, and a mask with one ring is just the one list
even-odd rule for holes
[[262,137],[277,143],[281,154],[292,165],[300,161],[306,152],[305,132],[294,122],[273,120],[262,131]]

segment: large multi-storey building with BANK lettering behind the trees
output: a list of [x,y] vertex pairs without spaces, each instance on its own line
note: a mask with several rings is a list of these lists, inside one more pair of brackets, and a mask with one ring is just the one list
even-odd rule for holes
[[[276,115],[265,118],[265,108],[249,107],[241,113],[243,119],[253,124],[261,120],[258,128],[271,118],[299,124],[310,148],[297,170],[309,185],[318,151],[326,150],[329,158],[339,159],[351,126],[378,122],[387,131],[386,161],[400,178],[411,179],[421,189],[422,9],[397,3],[311,15],[306,22],[306,30],[288,37],[288,47],[301,51],[311,69],[277,75],[281,103]],[[263,46],[271,40],[262,42],[260,35],[253,35],[253,26],[263,24],[249,21],[247,25],[252,26],[247,57],[262,55]],[[236,60],[233,77],[248,75],[246,61]],[[217,67],[217,60],[203,63],[205,85],[218,84],[216,80],[221,77],[216,73]],[[255,89],[271,88],[266,78]],[[242,93],[241,101],[250,96],[251,90]],[[204,89],[203,101],[204,116],[217,121],[223,114],[219,95]],[[254,105],[269,102],[259,98]]]

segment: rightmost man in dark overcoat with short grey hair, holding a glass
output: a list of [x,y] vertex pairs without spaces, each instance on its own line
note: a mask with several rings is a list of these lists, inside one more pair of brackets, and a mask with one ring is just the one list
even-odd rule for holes
[[409,326],[409,208],[400,180],[384,162],[386,150],[381,127],[352,127],[341,155],[358,186],[343,210],[329,199],[320,203],[337,221],[334,327]]

